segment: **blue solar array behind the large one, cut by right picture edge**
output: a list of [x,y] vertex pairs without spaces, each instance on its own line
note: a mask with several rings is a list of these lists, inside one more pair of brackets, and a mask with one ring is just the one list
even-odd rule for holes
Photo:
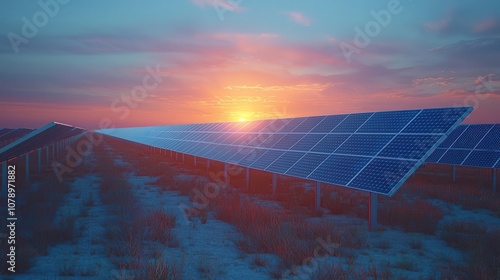
[[500,168],[500,124],[458,126],[427,161]]

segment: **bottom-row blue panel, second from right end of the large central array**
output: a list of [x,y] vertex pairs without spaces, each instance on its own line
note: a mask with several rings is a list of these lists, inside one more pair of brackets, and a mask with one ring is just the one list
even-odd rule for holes
[[331,155],[307,178],[345,186],[369,161],[366,157]]

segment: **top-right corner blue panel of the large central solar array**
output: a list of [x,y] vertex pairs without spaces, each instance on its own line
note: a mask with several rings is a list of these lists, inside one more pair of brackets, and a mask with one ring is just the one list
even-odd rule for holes
[[423,110],[403,130],[403,133],[446,133],[458,124],[460,117],[468,110],[469,107]]

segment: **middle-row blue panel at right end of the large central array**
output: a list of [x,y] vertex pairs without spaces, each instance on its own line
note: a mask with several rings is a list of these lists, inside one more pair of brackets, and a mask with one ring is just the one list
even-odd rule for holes
[[381,157],[422,158],[442,135],[398,135],[379,154]]

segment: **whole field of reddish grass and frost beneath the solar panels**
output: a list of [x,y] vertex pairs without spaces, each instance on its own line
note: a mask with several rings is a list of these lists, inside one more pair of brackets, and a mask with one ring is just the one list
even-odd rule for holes
[[206,167],[106,138],[62,183],[43,170],[18,189],[15,279],[500,278],[490,170],[420,168],[369,232],[365,193],[322,185],[316,211],[314,182],[279,177],[273,195],[270,174],[247,190]]

